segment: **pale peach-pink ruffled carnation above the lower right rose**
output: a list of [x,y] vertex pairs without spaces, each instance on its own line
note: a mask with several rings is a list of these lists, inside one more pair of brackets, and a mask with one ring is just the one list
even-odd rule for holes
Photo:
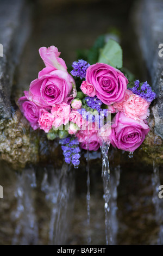
[[123,104],[124,114],[135,120],[146,119],[149,115],[149,105],[150,103],[139,95],[132,94]]

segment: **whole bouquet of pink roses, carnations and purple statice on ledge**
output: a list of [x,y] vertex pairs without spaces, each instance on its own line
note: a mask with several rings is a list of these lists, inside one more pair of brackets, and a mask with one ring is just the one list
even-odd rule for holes
[[116,41],[96,42],[94,50],[90,62],[79,59],[68,72],[57,47],[41,47],[45,68],[18,100],[32,128],[59,138],[66,163],[74,167],[82,149],[96,151],[102,141],[137,149],[149,131],[149,105],[156,97],[147,82],[129,81]]

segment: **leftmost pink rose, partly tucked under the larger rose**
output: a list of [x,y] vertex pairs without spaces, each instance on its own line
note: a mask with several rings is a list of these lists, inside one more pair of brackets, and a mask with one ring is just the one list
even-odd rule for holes
[[20,97],[18,104],[20,105],[20,109],[24,117],[29,121],[30,126],[36,130],[39,127],[38,121],[40,107],[36,106],[34,102],[29,101],[26,96]]

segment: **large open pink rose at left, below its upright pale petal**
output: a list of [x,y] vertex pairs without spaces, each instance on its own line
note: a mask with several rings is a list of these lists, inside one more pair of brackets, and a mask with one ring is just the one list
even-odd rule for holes
[[70,103],[76,94],[72,76],[62,70],[49,72],[30,83],[30,99],[44,108],[62,102]]

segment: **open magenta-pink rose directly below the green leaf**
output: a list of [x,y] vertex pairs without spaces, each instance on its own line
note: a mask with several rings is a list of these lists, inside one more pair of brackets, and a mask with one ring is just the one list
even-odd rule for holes
[[106,105],[121,102],[128,80],[123,73],[108,64],[96,63],[86,70],[86,82],[92,84],[96,96]]

